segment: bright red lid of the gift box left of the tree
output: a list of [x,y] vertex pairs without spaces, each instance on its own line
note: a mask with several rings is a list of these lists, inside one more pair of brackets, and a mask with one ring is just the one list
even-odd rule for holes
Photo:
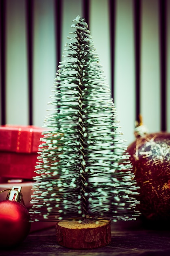
[[0,151],[37,153],[44,130],[37,126],[0,126]]

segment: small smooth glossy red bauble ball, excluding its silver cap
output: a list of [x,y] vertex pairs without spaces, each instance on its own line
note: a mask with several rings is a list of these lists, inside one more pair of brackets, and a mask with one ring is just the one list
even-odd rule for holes
[[30,215],[20,202],[4,200],[0,202],[0,247],[13,247],[28,235]]

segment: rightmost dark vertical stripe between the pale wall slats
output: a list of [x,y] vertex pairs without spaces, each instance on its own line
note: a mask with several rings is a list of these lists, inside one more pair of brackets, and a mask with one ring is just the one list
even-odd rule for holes
[[159,0],[161,131],[166,131],[166,0]]

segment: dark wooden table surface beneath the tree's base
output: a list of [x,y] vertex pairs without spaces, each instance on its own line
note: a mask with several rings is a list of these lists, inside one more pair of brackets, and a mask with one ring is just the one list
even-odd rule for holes
[[150,226],[142,220],[111,224],[111,243],[97,249],[69,249],[57,245],[55,228],[30,233],[11,250],[0,249],[0,256],[170,256],[170,227]]

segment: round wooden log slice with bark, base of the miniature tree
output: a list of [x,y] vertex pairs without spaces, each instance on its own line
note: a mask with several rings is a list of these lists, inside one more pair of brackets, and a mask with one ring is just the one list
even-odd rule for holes
[[110,220],[60,221],[56,224],[57,243],[73,249],[92,249],[111,242]]

